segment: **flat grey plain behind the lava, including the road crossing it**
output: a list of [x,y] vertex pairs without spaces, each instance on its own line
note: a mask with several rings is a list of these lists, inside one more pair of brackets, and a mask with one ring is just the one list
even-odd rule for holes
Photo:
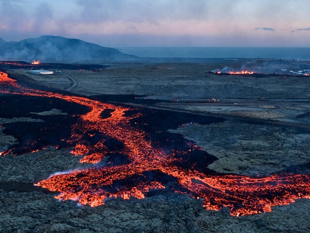
[[[281,68],[306,67],[307,62],[286,60],[225,60],[224,63],[155,63],[110,64],[99,72],[91,70],[62,70],[51,76],[36,76],[27,70],[15,70],[40,83],[68,89],[72,81],[77,86],[70,91],[78,95],[140,95],[146,99],[178,102],[158,103],[164,108],[274,119],[301,124],[310,123],[309,77],[244,77],[217,76],[207,73],[216,68],[247,67],[262,73],[283,73]],[[264,66],[265,65],[265,66]],[[259,67],[259,68],[257,68]],[[66,76],[65,76],[66,75]],[[211,98],[219,100],[210,103]]]

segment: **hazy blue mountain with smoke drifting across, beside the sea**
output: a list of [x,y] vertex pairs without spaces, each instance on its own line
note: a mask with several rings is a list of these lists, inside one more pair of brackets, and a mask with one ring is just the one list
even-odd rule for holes
[[19,42],[6,42],[0,38],[0,60],[94,63],[134,58],[137,57],[116,49],[62,36],[44,35]]

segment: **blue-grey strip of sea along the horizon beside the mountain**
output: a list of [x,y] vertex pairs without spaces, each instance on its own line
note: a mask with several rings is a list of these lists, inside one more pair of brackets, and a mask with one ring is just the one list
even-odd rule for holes
[[121,52],[152,58],[282,58],[310,60],[310,48],[126,47]]

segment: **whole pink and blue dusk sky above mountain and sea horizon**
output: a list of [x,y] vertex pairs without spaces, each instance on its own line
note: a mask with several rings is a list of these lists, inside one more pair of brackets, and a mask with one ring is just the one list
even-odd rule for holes
[[108,47],[310,47],[309,0],[0,0],[0,37]]

